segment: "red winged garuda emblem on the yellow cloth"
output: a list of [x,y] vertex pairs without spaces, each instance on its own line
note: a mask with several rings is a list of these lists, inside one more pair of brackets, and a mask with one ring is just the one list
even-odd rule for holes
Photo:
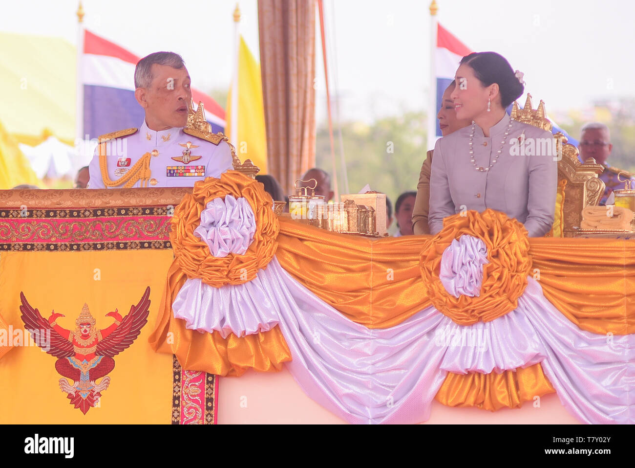
[[[88,310],[88,305],[84,304],[75,320],[76,329],[70,331],[57,324],[58,317],[64,315],[53,310],[48,320],[44,319],[20,292],[20,312],[25,329],[38,330],[41,334],[50,331],[50,347],[44,350],[58,358],[55,369],[72,381],[70,384],[65,378],[60,378],[60,389],[68,394],[70,404],[79,408],[84,415],[97,404],[102,396],[101,392],[110,385],[110,377],[107,375],[115,367],[112,358],[128,348],[147,323],[149,298],[150,287],[146,287],[144,296],[137,305],[130,307],[126,317],[121,317],[117,309],[107,313],[106,317],[112,317],[115,322],[103,330],[95,327],[95,319]],[[40,345],[41,340],[35,341]],[[97,383],[98,379],[102,379],[100,383]]]

